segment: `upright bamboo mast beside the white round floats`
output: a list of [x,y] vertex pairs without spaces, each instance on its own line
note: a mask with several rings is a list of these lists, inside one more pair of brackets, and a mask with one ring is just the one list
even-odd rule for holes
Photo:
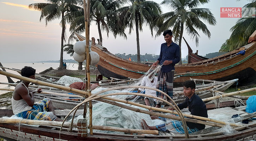
[[[88,85],[88,96],[91,96],[91,82],[90,82],[90,54],[89,54],[89,25],[90,25],[90,0],[84,1],[84,22],[85,22],[85,38],[86,38],[86,73],[87,73],[87,85]],[[84,104],[86,106],[86,103]],[[89,112],[90,112],[90,134],[93,135],[93,104],[91,100],[89,101]],[[84,110],[84,116],[86,114],[86,110]]]

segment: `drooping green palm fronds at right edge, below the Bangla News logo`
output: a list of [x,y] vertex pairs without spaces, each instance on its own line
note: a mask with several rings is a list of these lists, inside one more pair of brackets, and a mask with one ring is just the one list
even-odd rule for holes
[[[250,0],[244,7],[256,7],[256,0]],[[232,51],[248,43],[249,37],[256,29],[256,18],[240,18],[236,25],[231,27],[232,31],[229,39],[222,44],[220,52]]]

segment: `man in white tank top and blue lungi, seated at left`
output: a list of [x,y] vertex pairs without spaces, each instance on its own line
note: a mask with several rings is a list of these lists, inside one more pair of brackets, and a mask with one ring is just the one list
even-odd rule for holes
[[[35,78],[36,70],[32,67],[25,66],[21,70],[21,75],[27,78]],[[22,81],[19,83],[13,92],[12,96],[12,111],[13,114],[25,119],[33,120],[48,120],[48,121],[60,121],[54,114],[54,109],[50,98],[45,98],[35,103],[34,93],[42,92],[39,88],[36,91],[29,90],[28,81]],[[50,112],[47,112],[49,110]]]

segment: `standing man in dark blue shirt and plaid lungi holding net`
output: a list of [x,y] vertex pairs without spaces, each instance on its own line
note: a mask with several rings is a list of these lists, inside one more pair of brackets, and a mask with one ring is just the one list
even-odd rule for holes
[[[158,63],[163,65],[158,73],[156,88],[167,93],[172,98],[174,66],[180,61],[180,48],[179,45],[172,42],[172,30],[164,31],[163,36],[166,43],[161,44],[159,58],[152,66],[155,67]],[[166,96],[159,92],[156,92],[156,96],[166,99]],[[161,103],[162,101],[157,100],[156,107],[160,108]]]

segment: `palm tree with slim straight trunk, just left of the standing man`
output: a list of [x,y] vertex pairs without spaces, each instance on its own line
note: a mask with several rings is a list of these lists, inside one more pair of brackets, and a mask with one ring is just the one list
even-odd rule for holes
[[140,47],[139,47],[139,31],[142,31],[143,24],[149,26],[151,35],[153,36],[153,29],[155,25],[153,21],[161,13],[161,7],[154,1],[147,0],[127,0],[129,6],[123,7],[120,17],[124,17],[125,27],[129,27],[129,34],[135,26],[136,41],[137,41],[137,62],[141,62],[140,59]]

